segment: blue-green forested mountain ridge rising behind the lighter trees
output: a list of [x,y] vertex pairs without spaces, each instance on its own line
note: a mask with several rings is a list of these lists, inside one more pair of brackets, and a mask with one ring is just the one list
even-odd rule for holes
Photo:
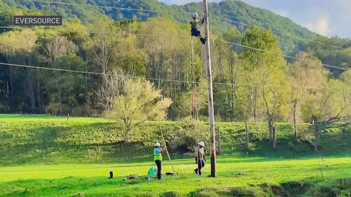
[[[157,13],[157,12],[139,12],[117,10],[110,8],[86,7],[86,6],[71,6],[61,4],[50,4],[44,2],[32,1],[16,1],[16,0],[3,0],[11,7],[39,9],[47,13],[55,13],[63,15],[64,18],[70,20],[74,16],[78,16],[83,22],[91,22],[94,18],[101,14],[106,14],[114,20],[123,19],[137,19],[145,21],[150,17],[162,16],[171,18],[181,23],[186,23],[189,15],[186,14],[172,14],[172,12],[198,12],[202,13],[202,3],[190,3],[182,6],[172,5],[168,6],[156,0],[53,0],[57,2],[69,2],[77,4],[90,4],[99,6],[112,6],[124,8],[137,8],[157,11],[167,11],[170,13]],[[237,22],[246,23],[249,25],[257,25],[258,27],[270,28],[277,32],[289,33],[303,37],[305,39],[316,39],[318,34],[309,31],[308,29],[297,25],[288,18],[274,14],[273,12],[265,9],[250,6],[242,1],[223,1],[219,3],[210,4],[210,14],[219,16],[221,18],[230,19]],[[160,24],[162,25],[162,24]],[[228,21],[211,18],[211,30],[216,33],[223,33],[225,30],[232,26],[236,26],[240,32],[247,27],[238,23],[230,23]],[[280,36],[280,46],[282,50],[289,54],[293,52],[296,44],[300,40],[291,38],[289,36]]]

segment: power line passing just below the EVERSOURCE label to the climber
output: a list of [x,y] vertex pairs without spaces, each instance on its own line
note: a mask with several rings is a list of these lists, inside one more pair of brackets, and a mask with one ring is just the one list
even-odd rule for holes
[[120,33],[120,32],[95,32],[95,31],[84,31],[84,30],[67,30],[67,29],[40,29],[33,27],[10,27],[0,26],[4,29],[32,29],[32,30],[45,30],[45,31],[57,31],[57,32],[73,32],[73,33],[91,33],[91,34],[114,34],[114,35],[135,35],[135,36],[153,36],[153,37],[173,37],[173,38],[191,38],[198,36],[186,36],[186,35],[162,35],[162,34],[137,34],[137,33]]

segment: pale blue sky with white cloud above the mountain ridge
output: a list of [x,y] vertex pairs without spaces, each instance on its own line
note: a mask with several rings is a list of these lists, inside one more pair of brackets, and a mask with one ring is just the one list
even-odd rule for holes
[[[159,0],[168,5],[201,0]],[[220,0],[209,0],[219,2]],[[243,0],[285,16],[313,32],[351,37],[351,0]]]

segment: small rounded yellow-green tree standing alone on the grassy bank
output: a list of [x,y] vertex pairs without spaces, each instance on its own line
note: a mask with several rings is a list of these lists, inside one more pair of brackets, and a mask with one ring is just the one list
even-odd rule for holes
[[172,100],[163,98],[161,90],[155,90],[153,85],[146,80],[127,80],[123,93],[114,98],[112,109],[106,112],[107,117],[122,125],[125,143],[130,142],[134,127],[147,120],[163,120],[167,115]]

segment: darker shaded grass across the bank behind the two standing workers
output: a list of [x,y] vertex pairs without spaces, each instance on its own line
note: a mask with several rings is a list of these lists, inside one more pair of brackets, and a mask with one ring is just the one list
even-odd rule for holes
[[[0,164],[153,162],[153,147],[148,147],[141,140],[128,145],[120,142],[123,133],[113,122],[78,125],[50,123],[50,126],[46,123],[35,124],[34,128],[19,128],[24,129],[28,134],[22,140],[9,141],[15,138],[15,135],[22,134],[17,130],[0,134]],[[157,123],[154,124],[157,125]],[[252,127],[260,125],[252,124]],[[230,132],[227,137],[223,138],[223,155],[219,156],[218,163],[228,163],[228,159],[231,160],[231,163],[239,163],[347,157],[348,154],[351,154],[351,148],[347,146],[351,144],[351,132],[350,127],[347,126],[341,128],[321,126],[321,145],[324,150],[318,153],[314,152],[313,147],[306,142],[294,143],[290,124],[277,125],[277,150],[272,148],[272,145],[266,140],[266,133],[259,128],[259,132],[251,134],[253,147],[250,152],[246,153],[245,143],[242,140],[245,137],[241,128],[234,129],[229,126]],[[264,135],[261,136],[261,134]],[[237,136],[241,140],[236,139]],[[150,139],[154,137],[153,134],[147,136]],[[176,164],[193,163],[190,161],[193,156],[184,156],[177,152],[170,152],[170,154],[172,159],[177,160]],[[166,157],[165,160],[167,160]]]

